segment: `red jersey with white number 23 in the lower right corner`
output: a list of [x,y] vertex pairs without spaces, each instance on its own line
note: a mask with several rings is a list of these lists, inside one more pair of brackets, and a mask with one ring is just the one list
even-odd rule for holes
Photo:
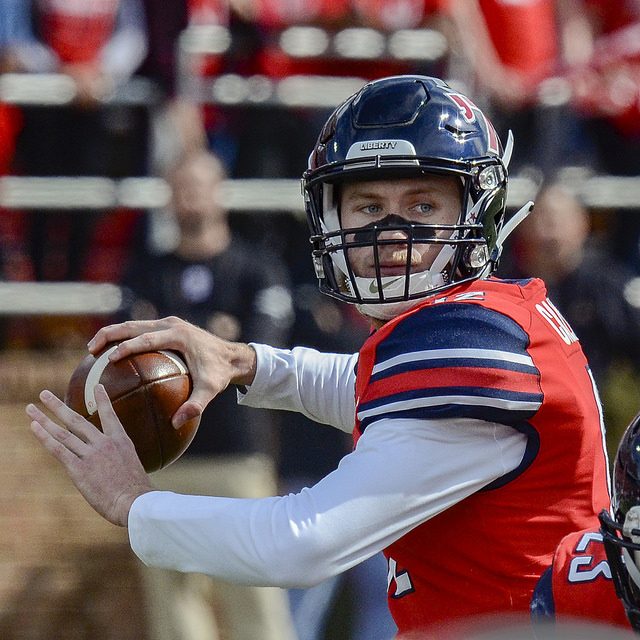
[[577,531],[562,539],[553,558],[551,585],[557,622],[585,618],[631,627],[597,530]]

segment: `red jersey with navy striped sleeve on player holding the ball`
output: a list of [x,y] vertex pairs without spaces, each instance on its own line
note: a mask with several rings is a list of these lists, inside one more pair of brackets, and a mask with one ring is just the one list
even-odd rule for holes
[[373,333],[358,361],[354,439],[389,417],[475,418],[528,438],[518,468],[385,550],[399,630],[528,612],[558,540],[597,527],[609,506],[595,385],[544,284],[476,281]]

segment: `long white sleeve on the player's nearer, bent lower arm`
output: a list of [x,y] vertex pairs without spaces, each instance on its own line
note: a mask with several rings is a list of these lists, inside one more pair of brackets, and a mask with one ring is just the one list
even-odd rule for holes
[[338,469],[297,494],[144,494],[129,515],[130,543],[153,566],[308,587],[511,471],[525,447],[524,435],[479,420],[382,420]]

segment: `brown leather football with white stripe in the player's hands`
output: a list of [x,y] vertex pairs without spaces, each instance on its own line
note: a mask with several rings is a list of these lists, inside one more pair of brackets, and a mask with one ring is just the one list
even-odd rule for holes
[[158,471],[186,451],[200,424],[199,418],[179,429],[171,424],[171,417],[191,393],[191,376],[182,357],[173,351],[139,353],[110,362],[116,346],[109,345],[97,357],[88,355],[80,362],[64,401],[100,429],[94,389],[98,383],[104,385],[145,471]]

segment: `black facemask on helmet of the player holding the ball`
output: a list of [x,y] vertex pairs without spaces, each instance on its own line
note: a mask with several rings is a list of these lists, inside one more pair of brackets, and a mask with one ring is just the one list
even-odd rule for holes
[[[497,163],[490,170],[498,176],[505,175]],[[455,175],[459,180],[459,213],[452,224],[420,224],[399,215],[387,215],[364,227],[344,228],[339,202],[341,182],[313,185],[309,189],[313,201],[308,202],[307,207],[314,211],[321,231],[311,238],[321,289],[347,302],[366,305],[363,310],[368,315],[385,318],[396,315],[398,304],[412,306],[426,295],[492,271],[492,260],[497,259],[493,250],[502,225],[504,189],[502,184],[485,190],[475,188],[478,173],[414,170],[413,177]],[[407,177],[402,173],[395,176]],[[378,173],[375,177],[386,176]],[[389,246],[394,247],[396,256],[404,254],[404,269],[383,275],[381,254]],[[372,251],[374,276],[355,273],[350,252],[362,247]],[[417,253],[425,254],[426,268],[416,266]]]

